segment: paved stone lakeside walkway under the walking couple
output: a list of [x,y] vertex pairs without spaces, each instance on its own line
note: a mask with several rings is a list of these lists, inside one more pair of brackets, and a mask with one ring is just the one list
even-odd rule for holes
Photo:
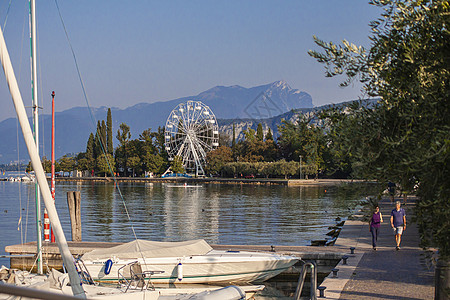
[[[321,284],[326,287],[326,299],[433,299],[434,268],[427,263],[429,260],[419,247],[418,230],[412,222],[414,198],[408,198],[406,207],[402,205],[406,210],[407,227],[399,251],[395,250],[390,226],[394,205],[389,199],[379,205],[384,222],[377,251],[372,249],[367,222],[345,222],[335,247],[348,252],[348,264],[343,265],[341,260],[336,266],[337,278],[331,273]],[[349,247],[356,248],[353,255]]]

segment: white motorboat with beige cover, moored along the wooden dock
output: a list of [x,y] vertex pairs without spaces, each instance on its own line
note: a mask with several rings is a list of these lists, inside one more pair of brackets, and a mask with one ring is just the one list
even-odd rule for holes
[[134,262],[152,272],[153,283],[262,282],[293,266],[298,257],[276,253],[214,250],[204,240],[135,240],[92,250],[81,257],[93,280],[115,282],[121,268]]

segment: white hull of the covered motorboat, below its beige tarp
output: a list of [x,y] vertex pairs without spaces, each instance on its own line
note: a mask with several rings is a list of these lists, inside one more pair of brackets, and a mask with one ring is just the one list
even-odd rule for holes
[[[105,274],[106,260],[83,261],[92,278],[100,282],[118,280],[122,266],[138,261],[142,271],[159,271],[151,276],[153,283],[249,283],[272,278],[294,265],[292,256],[257,252],[228,252],[213,250],[206,255],[190,257],[140,258],[118,260]],[[182,268],[179,267],[181,263]],[[180,274],[181,273],[181,274]]]

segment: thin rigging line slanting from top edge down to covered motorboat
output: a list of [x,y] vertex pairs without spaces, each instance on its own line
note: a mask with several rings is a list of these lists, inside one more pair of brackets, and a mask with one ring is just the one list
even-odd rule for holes
[[[64,20],[63,20],[63,18],[62,18],[61,10],[59,9],[59,5],[58,5],[58,1],[57,1],[57,0],[55,0],[55,4],[56,4],[56,8],[57,8],[57,10],[58,10],[59,19],[61,20],[61,24],[62,24],[62,26],[63,26],[64,33],[65,33],[65,35],[66,35],[67,42],[68,42],[69,47],[70,47],[70,50],[71,50],[71,52],[72,52],[72,57],[73,57],[74,62],[75,62],[75,67],[76,67],[76,69],[77,69],[78,78],[79,78],[79,80],[80,80],[80,84],[81,84],[81,88],[82,88],[82,91],[83,91],[84,99],[86,100],[86,105],[87,105],[87,107],[88,107],[89,115],[90,115],[90,117],[91,117],[92,124],[95,126],[95,124],[97,124],[97,122],[96,122],[95,117],[94,117],[94,115],[93,115],[93,113],[92,113],[92,108],[91,108],[91,106],[90,106],[90,104],[89,104],[89,99],[88,99],[88,96],[87,96],[87,93],[86,93],[86,89],[85,89],[85,86],[84,86],[83,79],[82,79],[82,77],[81,77],[81,72],[80,72],[80,68],[79,68],[79,66],[78,66],[78,61],[77,61],[77,58],[76,58],[76,55],[75,55],[75,51],[74,51],[74,49],[73,49],[72,43],[70,42],[69,34],[68,34],[68,32],[67,32],[66,25],[65,25]],[[97,130],[97,134],[98,134],[98,136],[100,137],[100,132],[98,132],[98,130]],[[99,138],[99,140],[101,141],[100,138]],[[105,158],[106,158],[105,160],[106,160],[106,163],[107,163],[107,165],[108,165],[108,169],[109,169],[109,171],[110,171],[110,173],[111,173],[111,175],[112,175],[112,177],[113,177],[114,186],[116,187],[116,189],[117,189],[117,191],[118,191],[118,193],[119,193],[119,195],[120,195],[120,198],[121,198],[121,200],[122,200],[122,204],[123,204],[123,206],[124,206],[125,213],[126,213],[127,218],[128,218],[128,220],[129,220],[129,222],[130,222],[130,224],[131,224],[131,230],[132,230],[132,232],[133,232],[133,235],[134,235],[135,240],[137,241],[138,238],[137,238],[137,235],[136,235],[136,231],[135,231],[135,229],[134,229],[134,226],[133,226],[133,221],[131,220],[130,214],[129,214],[129,212],[128,212],[128,208],[127,208],[126,203],[125,203],[125,199],[124,199],[124,197],[123,197],[123,195],[122,195],[122,192],[121,192],[121,190],[120,190],[120,188],[119,188],[119,185],[118,185],[116,176],[114,175],[114,172],[112,171],[112,167],[111,167],[111,165],[110,165],[109,159],[107,158],[106,151],[105,151],[105,148],[104,148],[104,145],[103,145],[102,142],[100,142],[100,147],[101,147],[101,149],[102,149],[103,154],[105,154]],[[142,258],[143,258],[144,261],[145,261],[145,258],[144,258],[143,253],[141,252],[139,243],[137,243],[137,246],[138,246],[138,248],[139,248],[139,252],[140,252],[141,255],[142,255]]]

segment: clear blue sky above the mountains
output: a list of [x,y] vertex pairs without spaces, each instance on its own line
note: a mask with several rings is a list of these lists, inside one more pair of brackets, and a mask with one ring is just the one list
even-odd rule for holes
[[[9,1],[0,3],[3,27]],[[197,95],[216,85],[252,87],[285,80],[311,94],[316,106],[358,98],[325,78],[307,51],[312,36],[370,45],[379,11],[361,0],[58,1],[91,106]],[[37,0],[39,103],[50,113],[85,106],[54,1]],[[31,105],[28,0],[12,2],[5,39],[25,105]],[[44,96],[44,97],[42,97]],[[3,72],[0,120],[14,117]]]

